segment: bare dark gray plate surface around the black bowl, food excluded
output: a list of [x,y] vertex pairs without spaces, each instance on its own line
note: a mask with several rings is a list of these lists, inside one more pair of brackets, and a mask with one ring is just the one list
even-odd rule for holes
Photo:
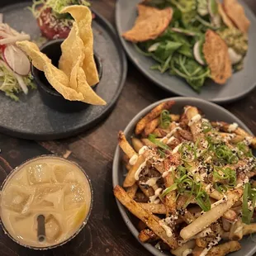
[[[5,1],[0,2],[0,7]],[[17,2],[7,0],[8,4]],[[31,2],[16,3],[0,8],[4,22],[30,34],[33,39],[40,36],[35,18],[26,9]],[[102,60],[102,78],[96,92],[106,106],[89,106],[76,113],[61,113],[46,107],[40,94],[30,91],[21,95],[20,102],[13,102],[0,92],[0,131],[8,135],[29,140],[55,140],[76,135],[95,126],[107,116],[121,93],[126,79],[126,55],[112,26],[96,13],[92,21],[94,50]]]

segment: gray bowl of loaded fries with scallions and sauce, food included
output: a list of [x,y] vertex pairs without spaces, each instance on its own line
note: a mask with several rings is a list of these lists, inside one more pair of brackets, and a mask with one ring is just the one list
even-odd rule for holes
[[117,205],[150,253],[255,253],[246,235],[256,232],[256,137],[237,117],[211,102],[173,97],[140,111],[118,144]]

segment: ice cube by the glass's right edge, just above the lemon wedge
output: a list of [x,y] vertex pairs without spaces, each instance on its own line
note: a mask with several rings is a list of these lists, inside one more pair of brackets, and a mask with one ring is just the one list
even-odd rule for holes
[[69,210],[80,207],[85,202],[85,190],[79,183],[66,185],[64,193],[64,209]]

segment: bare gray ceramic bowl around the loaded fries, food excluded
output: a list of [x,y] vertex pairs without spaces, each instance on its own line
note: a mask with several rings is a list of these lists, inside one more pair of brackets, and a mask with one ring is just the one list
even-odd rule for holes
[[[244,130],[248,131],[250,134],[252,132],[244,125],[242,121],[239,121],[237,117],[235,117],[233,114],[231,114],[229,111],[225,110],[225,108],[217,106],[214,103],[206,102],[201,99],[193,98],[193,97],[171,97],[168,99],[165,99],[160,102],[155,102],[154,104],[150,105],[149,107],[146,107],[144,110],[140,111],[126,126],[126,130],[124,130],[126,137],[130,138],[131,135],[133,135],[133,132],[135,130],[136,123],[140,120],[141,117],[145,116],[153,107],[156,107],[161,102],[165,102],[167,100],[173,100],[176,102],[176,104],[172,107],[173,113],[181,113],[183,111],[183,107],[186,105],[192,105],[195,107],[198,107],[203,111],[203,113],[206,115],[206,118],[212,120],[212,121],[226,121],[229,123],[236,122],[240,127],[242,127]],[[255,152],[254,152],[255,153]],[[113,181],[113,187],[116,187],[116,185],[121,185],[125,179],[125,173],[126,168],[122,164],[121,161],[121,150],[119,147],[116,147],[116,153],[113,161],[113,173],[112,173],[112,181]],[[135,236],[135,238],[140,242],[138,239],[138,230],[136,230],[135,225],[132,222],[131,214],[129,211],[126,210],[124,206],[121,205],[119,201],[117,201],[117,206],[121,212],[121,216],[126,222],[126,225],[128,226],[131,233]],[[255,235],[256,236],[256,235]],[[169,256],[171,254],[163,254],[159,252],[158,249],[155,249],[154,246],[151,244],[142,244],[145,249],[147,249],[151,254],[154,254],[156,256]],[[230,254],[232,256],[251,256],[256,252],[256,244],[254,241],[248,237],[245,237],[241,241],[242,249],[240,249],[237,253]]]

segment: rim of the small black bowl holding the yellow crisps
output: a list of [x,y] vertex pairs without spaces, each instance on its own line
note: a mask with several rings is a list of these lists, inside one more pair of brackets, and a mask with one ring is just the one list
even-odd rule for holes
[[[57,43],[63,43],[64,40],[65,39],[50,40],[50,41],[46,42],[44,45],[40,46],[40,51],[43,51],[46,47],[48,47],[50,45],[55,45]],[[96,59],[96,62],[98,63],[98,65],[99,65],[99,69],[97,69],[97,72],[98,72],[98,77],[99,77],[99,81],[100,81],[101,78],[102,78],[102,72],[103,72],[102,71],[102,61],[101,61],[100,57],[97,55],[97,53],[93,52],[93,56],[94,56],[94,59]],[[55,90],[55,88],[50,89],[45,85],[45,83],[42,83],[40,81],[40,78],[38,78],[38,75],[36,74],[36,70],[38,70],[38,72],[43,72],[43,71],[40,71],[39,69],[36,69],[36,67],[31,63],[31,74],[32,74],[33,78],[35,79],[36,84],[38,86],[40,86],[40,88],[42,88],[45,92],[49,93],[50,95],[55,96],[55,97],[63,98],[63,96],[59,92],[57,92]],[[98,82],[98,83],[100,83],[100,82]],[[92,88],[95,88],[97,86],[97,84],[94,84],[92,86]]]

